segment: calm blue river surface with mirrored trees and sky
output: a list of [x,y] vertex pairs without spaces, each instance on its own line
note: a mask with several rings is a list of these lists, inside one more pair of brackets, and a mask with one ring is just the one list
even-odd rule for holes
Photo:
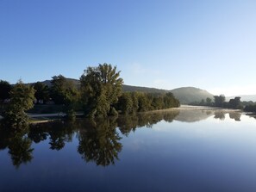
[[256,191],[256,120],[180,108],[0,135],[0,191]]

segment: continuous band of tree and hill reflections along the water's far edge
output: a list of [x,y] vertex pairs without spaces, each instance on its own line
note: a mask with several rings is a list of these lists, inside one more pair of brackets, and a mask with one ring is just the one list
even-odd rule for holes
[[[115,164],[118,154],[122,152],[122,137],[128,136],[137,128],[151,128],[159,121],[172,122],[201,121],[214,116],[224,120],[227,112],[212,110],[164,110],[141,113],[137,115],[120,115],[118,118],[95,119],[90,121],[52,121],[34,124],[20,133],[10,133],[8,127],[0,128],[0,151],[7,150],[12,164],[19,168],[33,159],[34,148],[42,141],[47,141],[49,150],[60,151],[66,143],[72,142],[74,135],[78,138],[77,151],[86,163],[108,166]],[[240,121],[240,113],[229,112],[229,118]],[[119,132],[120,131],[120,132]],[[34,148],[32,144],[34,143]]]

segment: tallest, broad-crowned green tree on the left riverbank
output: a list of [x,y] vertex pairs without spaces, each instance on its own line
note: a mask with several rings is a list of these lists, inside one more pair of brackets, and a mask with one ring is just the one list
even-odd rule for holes
[[116,66],[104,63],[88,67],[80,77],[84,114],[94,117],[116,112],[114,108],[122,95],[122,78]]

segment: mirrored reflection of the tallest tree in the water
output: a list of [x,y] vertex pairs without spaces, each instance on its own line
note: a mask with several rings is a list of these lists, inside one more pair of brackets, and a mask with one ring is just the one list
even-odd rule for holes
[[115,164],[118,153],[122,151],[116,126],[116,119],[112,118],[88,121],[87,127],[78,136],[78,152],[86,162],[103,166]]

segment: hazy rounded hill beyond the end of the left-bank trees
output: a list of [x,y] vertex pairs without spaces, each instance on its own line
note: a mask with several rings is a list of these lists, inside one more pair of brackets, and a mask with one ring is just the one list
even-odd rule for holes
[[190,102],[201,102],[207,97],[214,99],[213,95],[207,90],[200,90],[195,87],[181,87],[178,89],[170,90],[173,95],[178,98],[179,102],[182,104],[189,104]]

